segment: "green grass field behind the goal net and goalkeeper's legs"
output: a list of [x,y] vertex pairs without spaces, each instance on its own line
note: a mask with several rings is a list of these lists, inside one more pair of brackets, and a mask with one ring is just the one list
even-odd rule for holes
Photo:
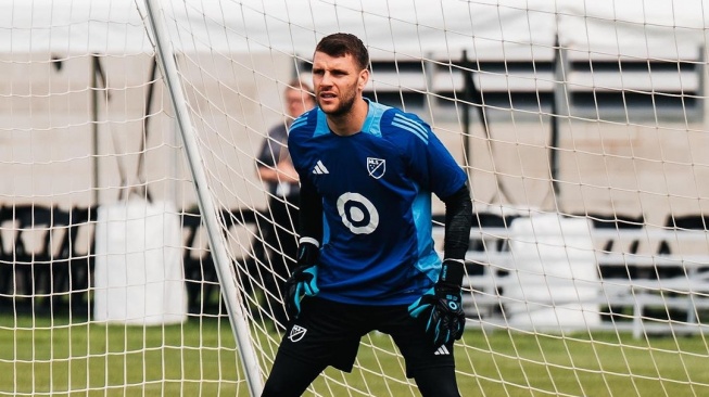
[[[262,362],[277,338],[261,336]],[[328,370],[315,395],[417,395],[389,337],[366,342],[355,371]],[[708,351],[701,335],[468,331],[456,358],[464,396],[700,396],[709,395]],[[238,361],[224,318],[142,328],[0,316],[0,396],[248,396]]]

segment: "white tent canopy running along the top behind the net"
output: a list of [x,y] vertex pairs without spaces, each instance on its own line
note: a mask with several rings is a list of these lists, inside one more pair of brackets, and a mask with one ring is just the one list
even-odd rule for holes
[[[309,54],[351,31],[372,56],[431,52],[528,57],[554,44],[653,56],[705,41],[709,0],[169,0],[177,51]],[[0,5],[0,52],[151,50],[142,0],[14,0]]]

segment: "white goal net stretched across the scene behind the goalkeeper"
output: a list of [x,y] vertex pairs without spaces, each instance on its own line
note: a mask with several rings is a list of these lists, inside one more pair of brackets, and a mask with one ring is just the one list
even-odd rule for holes
[[[296,240],[276,208],[297,205],[258,168],[287,179],[269,131],[335,31],[370,51],[365,94],[468,174],[464,396],[707,394],[708,9],[0,5],[0,396],[258,394]],[[371,333],[308,394],[418,392]]]

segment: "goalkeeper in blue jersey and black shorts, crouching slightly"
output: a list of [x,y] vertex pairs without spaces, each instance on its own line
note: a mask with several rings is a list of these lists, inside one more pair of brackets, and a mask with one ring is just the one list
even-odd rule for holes
[[[288,145],[301,182],[291,323],[263,396],[300,396],[328,367],[351,371],[360,337],[392,336],[423,396],[459,396],[453,344],[463,335],[464,257],[472,204],[467,177],[419,117],[363,98],[369,54],[350,34],[320,40],[317,107]],[[445,203],[443,260],[431,194]]]

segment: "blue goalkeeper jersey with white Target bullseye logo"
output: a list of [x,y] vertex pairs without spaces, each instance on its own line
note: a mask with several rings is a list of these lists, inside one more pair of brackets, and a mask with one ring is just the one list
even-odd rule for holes
[[408,305],[438,280],[431,193],[463,188],[465,171],[419,117],[368,101],[362,131],[330,131],[316,107],[293,121],[288,146],[301,181],[322,200],[319,296]]

